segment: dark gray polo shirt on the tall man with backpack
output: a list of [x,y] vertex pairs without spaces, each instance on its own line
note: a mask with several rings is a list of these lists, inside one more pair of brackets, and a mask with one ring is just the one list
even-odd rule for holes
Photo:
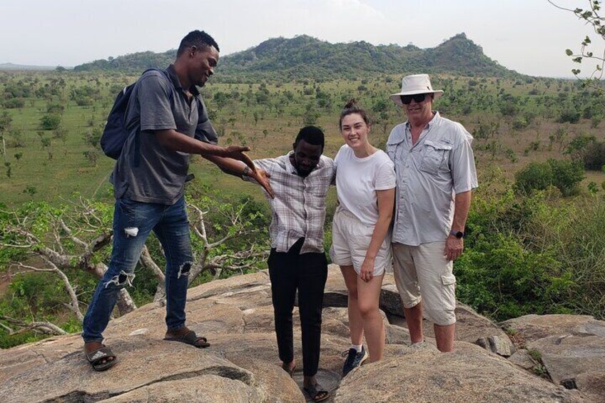
[[183,195],[189,154],[164,148],[154,131],[174,129],[189,137],[216,138],[197,88],[189,88],[194,96],[189,100],[174,66],[166,71],[170,81],[161,71],[148,71],[133,89],[126,110],[130,136],[112,173],[116,198],[172,205]]

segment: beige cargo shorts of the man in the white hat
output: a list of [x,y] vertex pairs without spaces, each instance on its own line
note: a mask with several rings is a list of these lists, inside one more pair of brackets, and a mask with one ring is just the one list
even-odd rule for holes
[[445,241],[393,244],[393,275],[403,306],[415,307],[422,299],[424,316],[440,326],[456,322],[454,263],[447,260],[444,250]]

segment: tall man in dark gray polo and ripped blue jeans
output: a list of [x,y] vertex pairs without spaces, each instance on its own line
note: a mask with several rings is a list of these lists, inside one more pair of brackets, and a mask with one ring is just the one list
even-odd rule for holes
[[[148,235],[153,231],[166,256],[166,337],[195,347],[208,347],[185,326],[185,297],[193,263],[189,223],[183,197],[189,155],[240,160],[248,175],[268,187],[243,151],[205,142],[217,138],[196,86],[203,86],[218,63],[218,44],[203,31],[192,31],[178,48],[176,61],[166,71],[147,71],[138,79],[126,110],[129,136],[112,182],[116,196],[111,262],[98,282],[83,320],[86,358],[103,371],[116,364],[116,355],[102,344],[118,292],[131,285],[134,268]],[[203,140],[203,141],[200,141]]]

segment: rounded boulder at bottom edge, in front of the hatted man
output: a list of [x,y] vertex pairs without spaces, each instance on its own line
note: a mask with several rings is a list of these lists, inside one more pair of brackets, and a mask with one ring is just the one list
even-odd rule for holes
[[[462,345],[465,345],[462,347]],[[507,360],[464,342],[388,348],[385,359],[345,377],[335,402],[579,402],[577,393],[528,376]]]

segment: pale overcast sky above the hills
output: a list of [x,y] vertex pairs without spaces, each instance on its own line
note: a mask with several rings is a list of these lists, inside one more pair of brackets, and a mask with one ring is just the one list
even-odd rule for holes
[[[546,0],[0,0],[0,63],[76,66],[162,52],[193,29],[212,35],[221,56],[278,36],[432,48],[464,32],[502,66],[550,77],[571,76],[578,65],[565,49],[593,34]],[[593,39],[602,52],[605,41]]]

